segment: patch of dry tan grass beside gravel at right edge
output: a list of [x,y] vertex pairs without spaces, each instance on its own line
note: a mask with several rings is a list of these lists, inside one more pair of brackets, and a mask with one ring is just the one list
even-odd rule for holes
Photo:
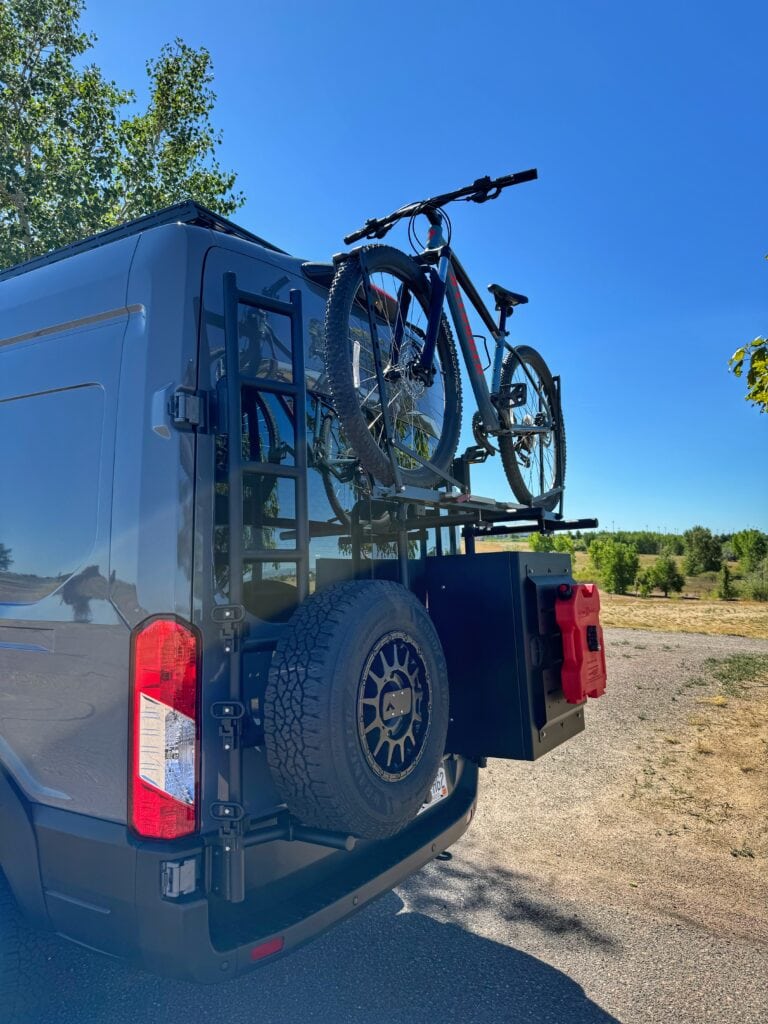
[[657,736],[635,797],[668,835],[768,858],[768,656],[710,663],[710,693],[674,737]]

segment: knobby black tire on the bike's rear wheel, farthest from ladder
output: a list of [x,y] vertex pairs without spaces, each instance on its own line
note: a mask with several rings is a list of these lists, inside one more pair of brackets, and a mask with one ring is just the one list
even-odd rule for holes
[[[512,410],[512,430],[509,433],[499,435],[499,452],[502,457],[504,472],[507,474],[509,485],[512,487],[512,493],[517,501],[521,505],[536,505],[551,512],[559,504],[560,494],[551,495],[549,498],[543,499],[542,493],[546,494],[548,490],[564,485],[565,427],[552,374],[544,358],[536,349],[529,348],[527,345],[520,345],[514,351],[507,353],[502,366],[501,393],[504,394],[505,390],[509,389],[514,372],[520,367],[521,362],[527,367],[535,378],[538,377],[541,381],[542,393],[553,420],[553,429],[549,440],[549,446],[552,449],[552,461],[547,473],[544,490],[542,492],[541,488],[537,487],[531,489],[522,472],[526,468],[522,463],[522,459],[526,458],[530,453],[526,453],[524,450],[521,451],[522,437],[520,434],[515,435],[514,421],[517,418],[517,422],[519,423],[524,418],[522,415],[524,410]],[[530,390],[530,384],[528,383],[528,391]],[[543,457],[541,449],[539,457],[540,459]]]

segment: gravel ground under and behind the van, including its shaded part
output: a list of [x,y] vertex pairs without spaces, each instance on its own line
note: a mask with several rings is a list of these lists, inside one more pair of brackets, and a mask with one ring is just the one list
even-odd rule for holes
[[[609,689],[540,763],[493,761],[450,859],[284,961],[203,988],[51,944],[36,1024],[765,1024],[766,864],[659,829],[643,758],[733,637],[606,631]],[[2,1021],[2,1008],[0,1008]]]

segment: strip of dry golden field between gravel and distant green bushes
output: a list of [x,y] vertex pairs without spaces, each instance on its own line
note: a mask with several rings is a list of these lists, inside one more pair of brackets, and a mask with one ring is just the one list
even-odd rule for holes
[[697,601],[620,597],[600,593],[600,622],[635,630],[710,633],[768,640],[768,604],[760,601]]

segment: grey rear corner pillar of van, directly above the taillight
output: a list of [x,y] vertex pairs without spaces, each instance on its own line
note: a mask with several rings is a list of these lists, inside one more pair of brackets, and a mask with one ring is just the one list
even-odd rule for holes
[[191,611],[196,434],[173,426],[174,391],[194,389],[202,266],[210,232],[168,225],[139,237],[115,435],[111,597],[131,628]]

